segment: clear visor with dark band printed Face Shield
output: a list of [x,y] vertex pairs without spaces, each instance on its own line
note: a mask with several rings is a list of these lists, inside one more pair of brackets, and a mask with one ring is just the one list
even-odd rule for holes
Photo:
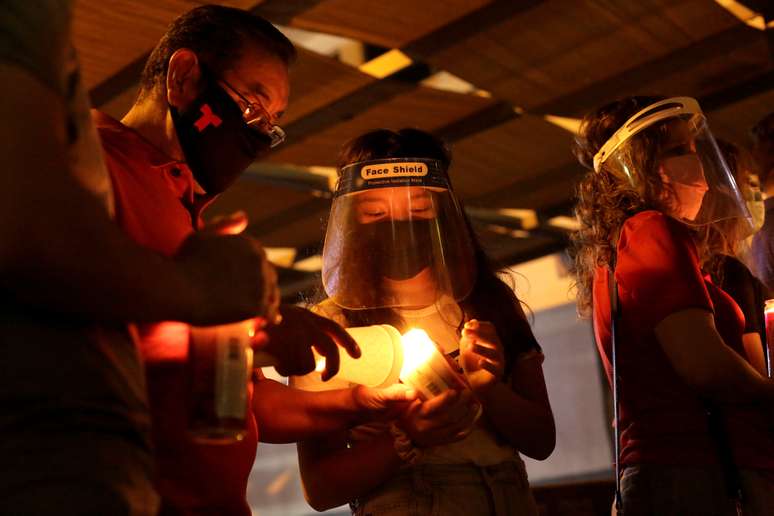
[[417,308],[472,290],[470,234],[441,162],[344,167],[325,235],[323,287],[351,310]]

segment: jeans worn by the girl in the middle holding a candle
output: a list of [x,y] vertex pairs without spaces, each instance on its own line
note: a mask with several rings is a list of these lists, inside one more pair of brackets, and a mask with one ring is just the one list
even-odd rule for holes
[[357,516],[537,516],[520,462],[423,464],[353,504]]

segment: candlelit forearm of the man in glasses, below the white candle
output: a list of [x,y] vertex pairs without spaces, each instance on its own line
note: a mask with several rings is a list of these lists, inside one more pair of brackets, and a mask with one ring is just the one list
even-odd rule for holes
[[361,408],[352,389],[304,391],[269,379],[255,382],[253,412],[265,443],[293,443],[355,426]]

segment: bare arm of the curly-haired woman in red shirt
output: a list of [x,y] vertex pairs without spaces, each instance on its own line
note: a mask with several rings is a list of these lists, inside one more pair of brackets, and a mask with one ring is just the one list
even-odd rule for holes
[[680,378],[703,395],[721,401],[774,402],[774,381],[725,345],[710,312],[673,313],[655,333]]

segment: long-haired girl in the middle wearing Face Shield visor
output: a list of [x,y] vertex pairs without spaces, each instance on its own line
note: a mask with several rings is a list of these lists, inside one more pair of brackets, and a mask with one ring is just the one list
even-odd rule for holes
[[[470,392],[301,443],[305,493],[318,510],[350,502],[375,516],[537,514],[519,452],[544,459],[554,446],[542,353],[471,231],[449,164],[443,143],[412,129],[367,133],[341,153],[318,311],[347,327],[425,330]],[[349,385],[335,381],[293,384]]]

